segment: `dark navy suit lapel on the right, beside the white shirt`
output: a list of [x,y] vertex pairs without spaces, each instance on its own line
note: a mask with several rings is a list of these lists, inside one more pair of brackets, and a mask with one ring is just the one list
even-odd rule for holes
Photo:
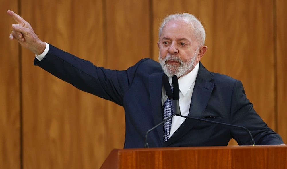
[[[193,89],[191,104],[188,116],[201,118],[202,114],[208,104],[210,94],[213,90],[214,83],[210,82],[213,77],[199,62],[199,71]],[[174,141],[185,135],[198,121],[186,119],[182,125],[174,132],[174,134],[163,144],[167,147]]]

